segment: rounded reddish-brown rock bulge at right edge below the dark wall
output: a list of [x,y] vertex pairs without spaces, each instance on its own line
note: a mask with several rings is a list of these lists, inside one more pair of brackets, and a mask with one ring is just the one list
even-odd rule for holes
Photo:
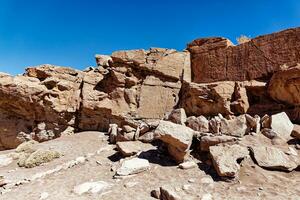
[[299,87],[300,64],[276,72],[270,80],[268,93],[275,101],[300,106]]

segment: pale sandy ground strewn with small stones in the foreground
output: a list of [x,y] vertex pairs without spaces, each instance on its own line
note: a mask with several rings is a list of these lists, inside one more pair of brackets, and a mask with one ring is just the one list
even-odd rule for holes
[[[53,148],[64,156],[31,169],[20,168],[14,161],[9,166],[1,167],[0,175],[11,182],[22,182],[79,156],[90,154],[91,157],[85,163],[3,190],[5,193],[0,195],[0,199],[34,200],[47,192],[49,200],[147,200],[154,199],[150,195],[152,190],[164,185],[171,186],[182,199],[191,200],[202,199],[208,194],[215,200],[300,199],[299,171],[269,171],[255,165],[251,159],[242,162],[239,180],[225,182],[216,179],[214,170],[200,161],[199,167],[182,170],[168,157],[151,151],[143,155],[150,160],[150,170],[125,179],[114,179],[115,172],[111,169],[119,163],[120,156],[115,145],[108,144],[107,139],[100,132],[83,132],[39,144],[40,148]],[[12,150],[2,151],[1,154],[10,152]],[[74,186],[87,181],[105,181],[111,187],[102,194],[77,195],[73,192]]]

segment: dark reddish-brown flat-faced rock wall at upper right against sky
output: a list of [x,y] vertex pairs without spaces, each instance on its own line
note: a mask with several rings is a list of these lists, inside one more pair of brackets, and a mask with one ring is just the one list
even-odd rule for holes
[[263,35],[233,45],[222,37],[188,44],[193,82],[269,79],[283,64],[300,63],[300,28]]

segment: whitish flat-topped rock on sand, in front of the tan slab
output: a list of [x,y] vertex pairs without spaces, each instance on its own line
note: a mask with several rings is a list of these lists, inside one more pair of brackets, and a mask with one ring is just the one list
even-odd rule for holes
[[117,170],[117,175],[128,176],[146,171],[150,168],[149,161],[141,158],[132,158],[125,160],[121,167]]

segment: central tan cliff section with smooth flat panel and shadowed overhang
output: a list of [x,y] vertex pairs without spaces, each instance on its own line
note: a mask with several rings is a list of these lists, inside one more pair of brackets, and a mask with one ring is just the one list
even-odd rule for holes
[[94,70],[84,78],[80,129],[161,119],[177,104],[181,80],[190,81],[188,52],[152,48],[118,51],[111,57],[105,74]]

